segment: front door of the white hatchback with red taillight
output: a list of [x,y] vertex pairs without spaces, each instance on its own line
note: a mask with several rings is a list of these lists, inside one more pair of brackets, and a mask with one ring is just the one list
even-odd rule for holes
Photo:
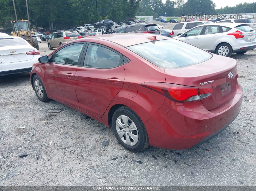
[[202,27],[197,27],[197,28],[189,30],[188,32],[185,33],[186,36],[180,37],[181,38],[180,40],[183,42],[186,42],[188,44],[199,47],[200,46],[200,37],[201,37],[200,34],[201,34],[203,28],[204,27],[202,26]]

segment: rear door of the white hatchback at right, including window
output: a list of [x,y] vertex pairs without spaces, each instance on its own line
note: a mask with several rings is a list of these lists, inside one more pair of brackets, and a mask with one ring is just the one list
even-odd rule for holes
[[212,50],[220,41],[222,31],[219,26],[205,26],[203,34],[200,37],[200,48],[204,50]]

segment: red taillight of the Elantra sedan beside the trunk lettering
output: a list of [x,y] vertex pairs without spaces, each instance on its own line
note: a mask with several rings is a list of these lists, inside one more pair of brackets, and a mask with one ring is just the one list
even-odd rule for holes
[[153,90],[175,102],[196,101],[209,97],[215,87],[192,87],[169,83],[145,82],[142,87]]

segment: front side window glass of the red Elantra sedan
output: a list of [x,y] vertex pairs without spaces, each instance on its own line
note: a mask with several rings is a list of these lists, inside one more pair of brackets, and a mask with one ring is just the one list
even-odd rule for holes
[[72,44],[65,46],[52,55],[51,62],[77,65],[82,48],[83,44]]

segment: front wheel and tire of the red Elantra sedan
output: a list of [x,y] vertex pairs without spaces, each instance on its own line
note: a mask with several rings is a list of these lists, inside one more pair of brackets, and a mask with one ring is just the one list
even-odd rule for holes
[[46,94],[44,84],[38,75],[35,75],[33,78],[33,88],[40,101],[47,102],[50,100]]

